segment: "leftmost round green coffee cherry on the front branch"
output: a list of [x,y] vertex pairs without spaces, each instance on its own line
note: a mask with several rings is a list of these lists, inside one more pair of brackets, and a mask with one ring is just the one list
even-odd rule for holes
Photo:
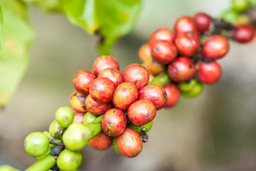
[[39,157],[47,153],[49,138],[41,132],[29,133],[24,140],[24,149],[32,157]]

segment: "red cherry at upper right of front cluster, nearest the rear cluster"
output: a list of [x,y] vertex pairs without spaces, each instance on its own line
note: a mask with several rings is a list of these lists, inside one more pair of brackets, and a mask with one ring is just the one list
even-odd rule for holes
[[134,84],[135,87],[140,90],[148,84],[149,72],[141,64],[130,64],[123,72],[123,79],[124,82]]

